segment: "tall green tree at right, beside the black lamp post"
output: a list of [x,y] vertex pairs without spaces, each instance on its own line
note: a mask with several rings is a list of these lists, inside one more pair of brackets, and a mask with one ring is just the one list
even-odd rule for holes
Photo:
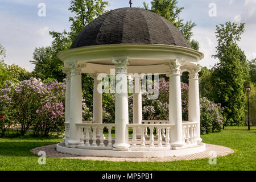
[[243,88],[249,75],[245,53],[237,42],[245,31],[245,24],[226,22],[216,26],[217,47],[214,58],[219,63],[213,67],[211,99],[224,107],[225,126],[243,125],[245,97]]

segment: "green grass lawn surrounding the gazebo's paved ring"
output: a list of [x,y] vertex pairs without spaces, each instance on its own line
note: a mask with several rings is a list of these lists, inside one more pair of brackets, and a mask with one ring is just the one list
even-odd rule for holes
[[202,135],[204,143],[230,147],[236,152],[217,158],[216,165],[208,159],[177,162],[99,162],[80,159],[47,158],[46,165],[38,164],[39,156],[31,148],[55,144],[57,138],[0,138],[0,170],[255,170],[256,131],[224,130]]

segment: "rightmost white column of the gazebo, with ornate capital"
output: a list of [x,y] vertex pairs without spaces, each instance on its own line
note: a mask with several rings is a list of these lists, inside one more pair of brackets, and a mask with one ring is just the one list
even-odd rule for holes
[[201,143],[200,137],[200,98],[199,98],[199,72],[200,65],[187,68],[189,72],[189,91],[188,91],[188,121],[197,122],[196,140]]

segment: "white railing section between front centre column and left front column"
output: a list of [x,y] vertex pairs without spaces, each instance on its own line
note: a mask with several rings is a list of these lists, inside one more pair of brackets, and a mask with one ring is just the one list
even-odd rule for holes
[[[76,125],[79,127],[80,132],[79,148],[112,149],[113,138],[111,131],[115,124],[81,123]],[[108,129],[108,139],[105,139],[104,128]],[[99,138],[96,136],[97,130],[100,130]],[[100,140],[100,143],[97,144],[98,140]],[[105,144],[104,141],[108,143]]]

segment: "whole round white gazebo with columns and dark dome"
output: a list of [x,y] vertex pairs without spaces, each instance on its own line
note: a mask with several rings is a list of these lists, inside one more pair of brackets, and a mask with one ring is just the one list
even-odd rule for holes
[[[65,138],[57,151],[85,156],[163,157],[205,151],[200,138],[199,61],[168,20],[151,11],[122,8],[93,20],[58,54],[67,75]],[[115,122],[102,123],[101,73],[115,71]],[[180,75],[189,72],[188,121],[182,119]],[[94,78],[93,121],[82,121],[81,73]],[[129,124],[127,75],[134,76],[133,123]],[[170,77],[169,121],[142,118],[142,73]],[[108,129],[108,137],[103,130]],[[112,138],[111,131],[115,131]],[[129,137],[129,129],[133,131]],[[154,134],[156,131],[156,134]]]

